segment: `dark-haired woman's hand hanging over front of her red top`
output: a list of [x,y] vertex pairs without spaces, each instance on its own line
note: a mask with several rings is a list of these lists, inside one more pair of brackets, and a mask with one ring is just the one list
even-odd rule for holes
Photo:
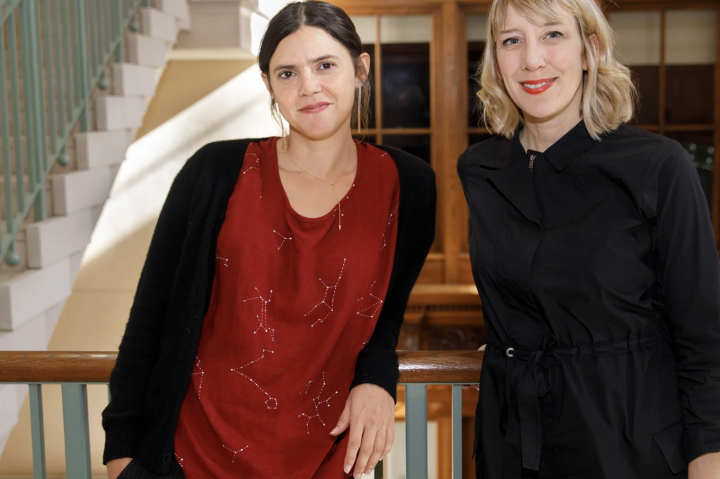
[[[355,478],[370,474],[395,440],[395,401],[380,386],[361,384],[350,391],[345,409],[330,434],[337,436],[350,426],[345,454],[345,474],[353,464]],[[359,451],[359,454],[358,454]],[[111,478],[112,479],[112,478]]]

